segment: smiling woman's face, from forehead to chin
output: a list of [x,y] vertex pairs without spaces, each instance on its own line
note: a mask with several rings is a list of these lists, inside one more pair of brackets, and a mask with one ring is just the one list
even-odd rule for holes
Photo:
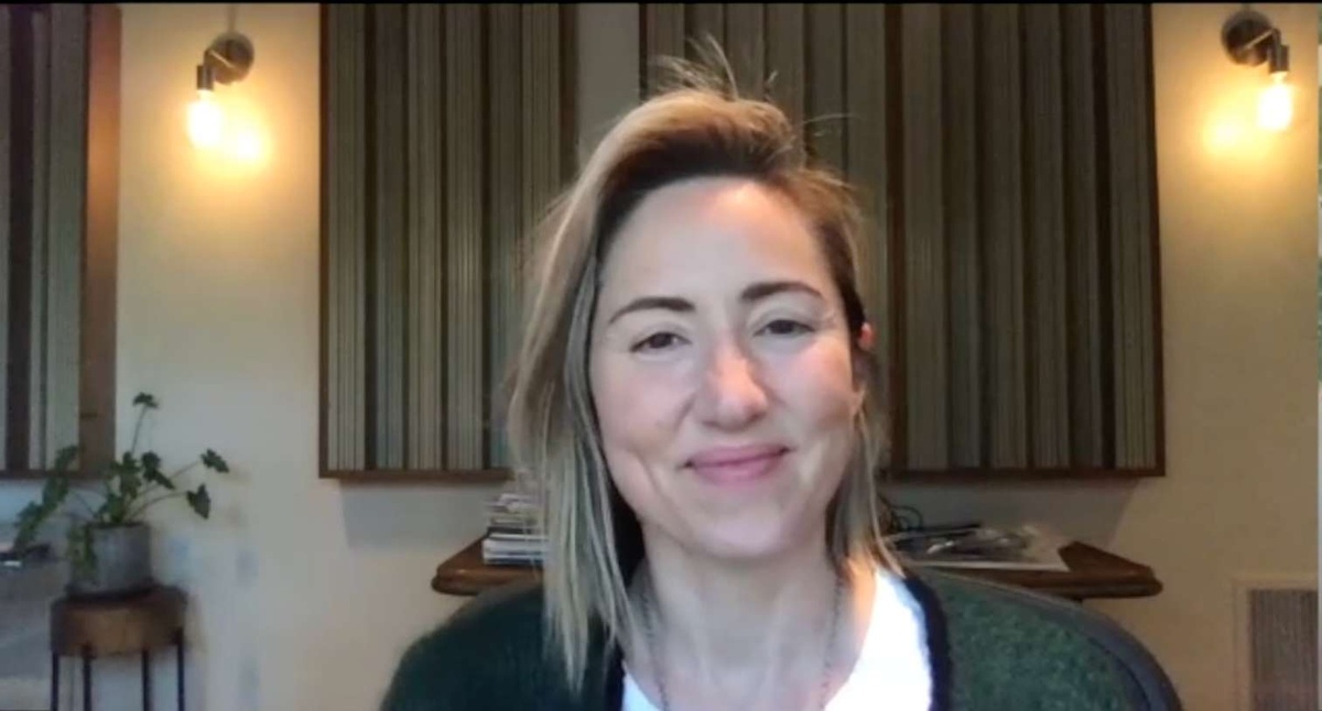
[[591,387],[649,533],[743,559],[822,534],[863,395],[826,260],[779,193],[705,177],[637,205],[603,266]]

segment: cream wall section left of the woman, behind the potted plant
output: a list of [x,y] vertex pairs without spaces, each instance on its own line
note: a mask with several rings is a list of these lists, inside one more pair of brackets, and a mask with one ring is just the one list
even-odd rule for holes
[[198,160],[182,133],[225,7],[123,8],[120,418],[151,390],[167,463],[214,447],[237,469],[212,522],[161,511],[161,568],[193,596],[193,707],[371,708],[406,641],[455,608],[431,571],[481,531],[486,490],[317,480],[319,11],[239,8],[260,170]]

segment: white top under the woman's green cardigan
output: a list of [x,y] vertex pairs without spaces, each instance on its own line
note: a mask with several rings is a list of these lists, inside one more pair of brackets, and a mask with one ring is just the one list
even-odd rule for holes
[[[928,711],[932,706],[932,667],[928,661],[923,608],[894,574],[876,572],[873,616],[854,669],[826,711]],[[624,670],[623,711],[658,711]]]

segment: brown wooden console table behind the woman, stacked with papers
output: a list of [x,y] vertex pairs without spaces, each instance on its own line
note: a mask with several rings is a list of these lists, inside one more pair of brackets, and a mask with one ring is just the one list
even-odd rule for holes
[[[949,571],[997,583],[1019,585],[1071,600],[1103,597],[1150,597],[1161,592],[1161,581],[1151,568],[1087,543],[1060,548],[1068,571]],[[533,566],[488,566],[483,563],[479,538],[436,568],[431,588],[443,595],[472,596],[485,589],[527,580],[538,575]]]

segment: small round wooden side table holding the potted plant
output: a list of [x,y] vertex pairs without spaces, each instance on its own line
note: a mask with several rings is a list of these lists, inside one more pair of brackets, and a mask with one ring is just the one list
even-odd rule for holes
[[173,645],[178,658],[178,711],[184,711],[184,592],[159,587],[131,597],[61,597],[50,604],[50,711],[59,706],[59,658],[82,657],[83,711],[91,711],[91,662],[139,654],[143,708],[152,708],[152,652]]

